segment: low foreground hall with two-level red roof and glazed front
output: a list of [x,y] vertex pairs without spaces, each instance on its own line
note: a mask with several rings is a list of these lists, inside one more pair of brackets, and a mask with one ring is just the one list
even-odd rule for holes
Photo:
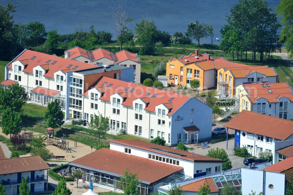
[[[145,195],[157,193],[158,186],[173,181],[219,173],[224,162],[141,140],[108,141],[110,149],[99,149],[70,162],[69,166],[84,171],[86,183],[93,181],[94,185],[118,191],[122,188],[117,180],[127,169],[136,174],[141,182],[140,194]],[[214,191],[214,186],[211,189]]]

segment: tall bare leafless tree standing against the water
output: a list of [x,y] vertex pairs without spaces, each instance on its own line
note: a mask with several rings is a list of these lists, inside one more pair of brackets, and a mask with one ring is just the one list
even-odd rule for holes
[[113,7],[113,19],[115,21],[114,28],[112,28],[114,35],[117,37],[117,40],[120,42],[120,50],[122,50],[122,44],[127,41],[127,33],[130,33],[131,30],[127,28],[127,24],[134,20],[126,16],[126,6],[124,5],[115,5]]

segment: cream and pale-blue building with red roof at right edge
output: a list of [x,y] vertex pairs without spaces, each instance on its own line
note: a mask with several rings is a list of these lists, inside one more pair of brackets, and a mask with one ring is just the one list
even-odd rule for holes
[[258,112],[284,119],[293,118],[293,89],[287,83],[244,83],[237,86],[239,112]]

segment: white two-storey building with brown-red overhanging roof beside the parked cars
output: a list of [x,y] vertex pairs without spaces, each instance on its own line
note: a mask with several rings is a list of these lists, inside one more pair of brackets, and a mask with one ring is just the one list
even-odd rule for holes
[[235,130],[234,148],[245,146],[253,156],[261,151],[275,154],[274,143],[293,140],[293,121],[251,111],[240,112],[224,126]]

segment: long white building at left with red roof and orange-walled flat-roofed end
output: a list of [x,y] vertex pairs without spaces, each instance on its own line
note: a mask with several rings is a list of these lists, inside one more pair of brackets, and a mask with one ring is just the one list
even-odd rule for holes
[[[25,49],[6,65],[5,80],[1,82],[1,86],[9,87],[18,82],[33,103],[47,106],[49,102],[58,99],[64,108],[66,102],[69,103],[69,91],[72,91],[68,81],[71,81],[70,75],[75,71],[79,75],[85,75],[71,78],[75,85],[84,86],[71,93],[77,94],[75,96],[84,93],[88,84],[91,86],[103,75],[127,82],[132,81],[133,75],[133,68],[119,65],[100,67]],[[74,103],[81,105],[79,101]]]

